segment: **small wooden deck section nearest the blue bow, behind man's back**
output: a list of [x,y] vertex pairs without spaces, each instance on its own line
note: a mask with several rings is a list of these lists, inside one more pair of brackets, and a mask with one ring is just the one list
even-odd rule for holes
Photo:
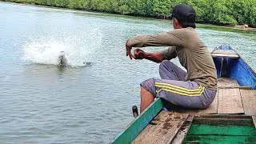
[[239,84],[232,78],[218,78],[218,88],[238,87]]

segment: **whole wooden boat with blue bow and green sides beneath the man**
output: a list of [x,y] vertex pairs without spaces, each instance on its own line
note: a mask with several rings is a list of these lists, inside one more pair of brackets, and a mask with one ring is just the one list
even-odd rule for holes
[[204,110],[156,98],[112,143],[254,143],[256,73],[230,46],[212,52],[218,92]]

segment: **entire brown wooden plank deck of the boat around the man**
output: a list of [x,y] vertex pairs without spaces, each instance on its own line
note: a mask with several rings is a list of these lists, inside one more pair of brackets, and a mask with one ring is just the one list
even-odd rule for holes
[[133,143],[181,143],[193,118],[204,117],[203,114],[206,117],[218,114],[234,118],[253,116],[256,126],[256,90],[239,86],[238,82],[230,78],[218,78],[218,92],[214,102],[205,110],[186,110],[170,104],[167,109],[168,111],[162,110]]

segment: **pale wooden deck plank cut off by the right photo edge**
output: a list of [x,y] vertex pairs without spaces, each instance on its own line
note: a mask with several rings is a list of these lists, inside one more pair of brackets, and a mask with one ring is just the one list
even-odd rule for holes
[[256,90],[240,90],[246,115],[256,115]]

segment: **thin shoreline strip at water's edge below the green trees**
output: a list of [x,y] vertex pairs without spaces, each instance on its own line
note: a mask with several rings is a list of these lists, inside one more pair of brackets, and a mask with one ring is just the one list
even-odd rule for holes
[[[47,8],[57,8],[57,9],[62,9],[62,10],[81,10],[81,9],[70,9],[67,7],[60,7],[60,6],[46,6],[46,5],[39,5],[35,4],[32,2],[10,2],[10,1],[5,1],[5,0],[0,0],[0,2],[5,2],[5,3],[13,3],[13,4],[18,4],[18,5],[25,5],[25,6],[39,6],[39,7],[47,7]],[[116,14],[116,13],[111,13],[111,12],[102,12],[98,10],[81,10],[85,12],[94,12],[94,13],[99,13],[99,14]],[[122,14],[117,14],[122,16]],[[154,17],[154,16],[142,16],[142,15],[135,15],[135,14],[123,14],[126,16],[134,17],[134,18],[153,18],[153,19],[165,19],[165,20],[170,20],[170,17]],[[222,26],[222,25],[217,25],[217,24],[212,24],[212,23],[205,23],[205,22],[197,22],[197,24],[206,24],[206,25],[211,25],[211,26],[221,26],[223,28],[227,28],[230,30],[242,30],[242,31],[252,31],[256,32],[256,28],[254,27],[244,27],[244,25],[236,25],[236,26]]]

